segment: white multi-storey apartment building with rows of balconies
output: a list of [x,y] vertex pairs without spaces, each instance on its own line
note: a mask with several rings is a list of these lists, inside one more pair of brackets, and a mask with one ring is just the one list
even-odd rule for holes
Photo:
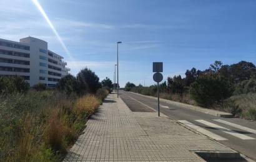
[[30,86],[55,86],[69,73],[66,65],[61,55],[48,50],[44,40],[27,37],[13,42],[0,38],[0,76],[22,76]]

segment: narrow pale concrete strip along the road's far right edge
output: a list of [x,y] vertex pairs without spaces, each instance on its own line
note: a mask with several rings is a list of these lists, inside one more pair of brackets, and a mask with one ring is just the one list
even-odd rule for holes
[[[145,96],[143,94],[139,94],[139,93],[135,93],[135,92],[130,92],[130,93],[138,94],[140,96],[148,97],[150,99],[157,99],[157,97],[153,97],[153,96]],[[168,103],[168,104],[172,104],[174,106],[180,106],[180,107],[183,107],[185,109],[196,110],[196,111],[199,111],[199,112],[203,112],[205,114],[214,115],[215,117],[227,117],[227,118],[228,117],[233,117],[232,114],[227,113],[227,112],[222,112],[222,111],[219,111],[219,110],[212,110],[212,109],[207,109],[207,108],[204,108],[204,107],[193,106],[193,105],[184,104],[184,103],[180,103],[180,102],[170,101],[168,99],[161,99],[160,98],[160,101]]]

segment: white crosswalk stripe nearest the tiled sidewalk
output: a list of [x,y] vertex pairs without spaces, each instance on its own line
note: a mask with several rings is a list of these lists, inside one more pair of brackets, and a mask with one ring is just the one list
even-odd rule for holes
[[204,135],[207,135],[208,137],[213,138],[214,140],[218,140],[218,141],[227,140],[227,138],[216,135],[215,133],[212,133],[209,130],[199,127],[198,125],[192,124],[187,120],[178,120],[178,122],[186,125],[187,127],[193,128],[194,130],[197,130],[198,132],[203,133]]

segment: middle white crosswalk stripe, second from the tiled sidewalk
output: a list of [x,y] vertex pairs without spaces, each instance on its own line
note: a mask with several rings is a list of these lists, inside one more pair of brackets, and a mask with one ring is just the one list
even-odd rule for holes
[[218,129],[218,130],[220,130],[222,132],[228,133],[228,134],[233,135],[233,136],[235,136],[237,138],[240,138],[242,140],[254,140],[255,139],[255,138],[249,137],[247,135],[244,135],[242,133],[238,133],[238,132],[235,132],[235,131],[230,130],[228,128],[222,127],[220,125],[213,124],[211,122],[207,122],[205,120],[195,120],[195,121],[200,122],[200,123],[202,123],[204,125],[208,125],[209,127],[216,128],[216,129]]

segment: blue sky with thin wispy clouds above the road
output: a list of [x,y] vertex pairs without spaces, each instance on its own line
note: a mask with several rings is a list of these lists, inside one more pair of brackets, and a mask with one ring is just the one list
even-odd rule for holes
[[61,41],[32,0],[0,1],[0,38],[45,40],[74,76],[87,66],[114,79],[118,41],[121,86],[154,84],[153,61],[164,63],[164,79],[215,60],[256,64],[255,0],[37,1]]

